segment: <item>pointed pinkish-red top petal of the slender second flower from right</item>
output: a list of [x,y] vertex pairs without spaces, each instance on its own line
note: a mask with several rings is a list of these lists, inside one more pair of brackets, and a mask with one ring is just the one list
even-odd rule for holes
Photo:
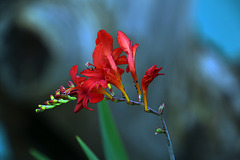
[[131,52],[130,51],[131,42],[123,32],[118,31],[117,40],[118,40],[119,46],[124,52],[126,52],[127,54]]

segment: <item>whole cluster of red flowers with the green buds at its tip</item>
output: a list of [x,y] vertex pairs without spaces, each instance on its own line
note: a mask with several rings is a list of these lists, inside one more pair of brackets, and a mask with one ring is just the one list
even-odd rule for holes
[[[92,54],[93,64],[89,62],[86,63],[87,69],[80,72],[82,76],[77,75],[78,66],[74,65],[71,68],[70,75],[75,85],[69,81],[69,88],[64,88],[62,86],[56,91],[55,96],[50,96],[51,100],[46,101],[44,105],[39,105],[36,111],[44,111],[76,99],[78,99],[78,101],[74,109],[75,113],[82,108],[93,110],[88,107],[88,102],[98,103],[102,101],[104,97],[112,101],[115,100],[115,94],[111,85],[119,89],[125,101],[130,104],[131,102],[121,80],[124,69],[119,68],[119,65],[123,64],[127,65],[126,72],[130,71],[132,75],[137,88],[139,102],[141,102],[141,97],[143,95],[144,110],[148,111],[147,88],[154,78],[158,75],[163,75],[163,73],[158,73],[162,67],[157,68],[156,65],[153,65],[146,71],[142,79],[142,94],[135,68],[135,54],[138,44],[133,44],[121,31],[118,31],[117,40],[120,47],[113,49],[112,36],[105,30],[100,30],[96,39],[96,47]],[[127,56],[121,55],[122,52],[125,52]],[[109,88],[110,93],[106,91],[107,88]]]

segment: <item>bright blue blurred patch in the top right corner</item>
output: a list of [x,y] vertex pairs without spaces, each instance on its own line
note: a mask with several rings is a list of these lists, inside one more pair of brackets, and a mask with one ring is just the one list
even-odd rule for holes
[[195,3],[194,18],[200,36],[217,44],[227,58],[239,58],[240,2],[198,0]]

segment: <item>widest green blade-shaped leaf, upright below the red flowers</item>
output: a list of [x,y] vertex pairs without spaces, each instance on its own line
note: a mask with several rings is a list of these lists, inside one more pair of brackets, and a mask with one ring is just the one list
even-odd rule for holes
[[129,159],[118,134],[116,125],[108,107],[107,101],[98,103],[99,123],[102,134],[102,142],[106,160]]

